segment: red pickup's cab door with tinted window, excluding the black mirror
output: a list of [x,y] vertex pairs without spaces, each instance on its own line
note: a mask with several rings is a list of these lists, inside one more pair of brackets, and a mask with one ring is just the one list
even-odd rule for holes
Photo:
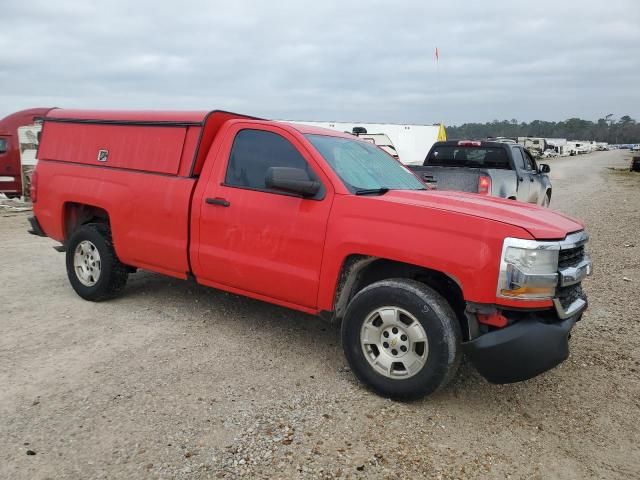
[[[315,198],[269,190],[269,167],[305,169],[323,188]],[[298,138],[236,124],[199,200],[198,281],[315,308],[332,194]]]

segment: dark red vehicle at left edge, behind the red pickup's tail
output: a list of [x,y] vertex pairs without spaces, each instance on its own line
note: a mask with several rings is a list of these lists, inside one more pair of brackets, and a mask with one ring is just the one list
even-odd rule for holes
[[7,197],[22,195],[18,128],[31,125],[50,110],[51,108],[31,108],[12,113],[0,120],[0,193]]

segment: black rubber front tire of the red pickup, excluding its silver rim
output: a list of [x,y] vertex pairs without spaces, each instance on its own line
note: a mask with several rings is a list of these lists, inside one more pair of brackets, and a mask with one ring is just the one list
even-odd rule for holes
[[[363,324],[382,307],[410,313],[426,333],[426,361],[413,376],[390,378],[367,359],[371,352],[361,345]],[[443,388],[460,365],[461,338],[460,324],[449,303],[423,283],[402,278],[376,282],[358,292],[342,322],[342,347],[352,371],[372,390],[394,399],[421,398]]]

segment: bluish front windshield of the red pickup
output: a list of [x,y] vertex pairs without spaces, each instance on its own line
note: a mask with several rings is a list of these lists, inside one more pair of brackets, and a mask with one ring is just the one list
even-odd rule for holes
[[305,135],[352,193],[426,190],[397,160],[375,145],[328,135]]

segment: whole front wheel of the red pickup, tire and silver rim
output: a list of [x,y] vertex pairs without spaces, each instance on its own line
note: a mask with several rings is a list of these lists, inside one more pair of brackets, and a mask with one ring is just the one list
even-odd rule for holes
[[358,292],[342,323],[351,369],[391,398],[420,398],[446,385],[460,363],[460,342],[447,301],[407,279],[383,280]]

